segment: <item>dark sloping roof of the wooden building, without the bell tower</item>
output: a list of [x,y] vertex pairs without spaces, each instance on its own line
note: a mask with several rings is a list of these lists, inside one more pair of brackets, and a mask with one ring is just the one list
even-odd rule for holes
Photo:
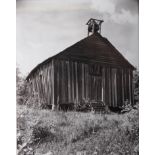
[[49,63],[52,59],[99,63],[113,67],[135,69],[107,38],[102,37],[99,33],[94,33],[38,64],[27,76],[27,79],[38,68]]

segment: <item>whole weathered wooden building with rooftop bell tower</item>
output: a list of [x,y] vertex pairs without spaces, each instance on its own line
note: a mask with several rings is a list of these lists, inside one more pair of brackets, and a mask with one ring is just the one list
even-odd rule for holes
[[37,65],[26,78],[29,93],[38,93],[52,109],[86,102],[134,104],[135,68],[101,36],[102,22],[91,18],[86,38]]

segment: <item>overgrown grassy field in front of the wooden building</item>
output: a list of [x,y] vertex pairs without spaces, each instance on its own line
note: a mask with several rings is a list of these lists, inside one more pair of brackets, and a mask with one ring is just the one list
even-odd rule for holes
[[138,111],[126,114],[52,112],[17,106],[17,132],[36,154],[136,155]]

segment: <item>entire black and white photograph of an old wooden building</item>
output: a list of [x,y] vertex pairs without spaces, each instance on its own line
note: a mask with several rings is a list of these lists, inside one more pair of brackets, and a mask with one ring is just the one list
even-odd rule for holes
[[16,0],[17,155],[139,154],[139,0]]

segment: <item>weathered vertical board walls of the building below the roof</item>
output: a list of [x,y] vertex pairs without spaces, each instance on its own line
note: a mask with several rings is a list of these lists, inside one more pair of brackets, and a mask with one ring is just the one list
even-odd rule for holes
[[132,70],[66,60],[42,65],[29,79],[29,92],[37,92],[48,105],[103,101],[112,107],[133,103]]

